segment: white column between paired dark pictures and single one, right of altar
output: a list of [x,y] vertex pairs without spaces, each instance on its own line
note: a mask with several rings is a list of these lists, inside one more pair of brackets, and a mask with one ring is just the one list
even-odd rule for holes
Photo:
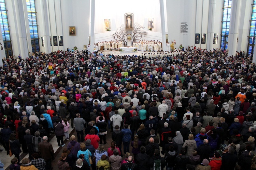
[[216,0],[210,0],[209,3],[209,17],[208,17],[208,38],[207,38],[207,51],[213,49],[213,35],[215,24]]

